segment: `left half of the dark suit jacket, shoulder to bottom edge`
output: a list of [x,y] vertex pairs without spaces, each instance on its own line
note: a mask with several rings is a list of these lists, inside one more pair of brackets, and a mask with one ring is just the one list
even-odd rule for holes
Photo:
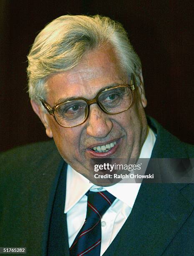
[[13,149],[2,157],[1,246],[26,247],[28,255],[46,255],[53,198],[64,161],[53,141]]

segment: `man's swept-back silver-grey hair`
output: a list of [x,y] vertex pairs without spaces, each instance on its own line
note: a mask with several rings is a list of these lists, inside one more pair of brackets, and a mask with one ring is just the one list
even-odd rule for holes
[[48,76],[75,67],[86,51],[107,43],[121,68],[136,74],[139,84],[141,61],[121,23],[99,15],[63,15],[40,31],[28,55],[30,98],[38,104],[40,97],[46,100]]

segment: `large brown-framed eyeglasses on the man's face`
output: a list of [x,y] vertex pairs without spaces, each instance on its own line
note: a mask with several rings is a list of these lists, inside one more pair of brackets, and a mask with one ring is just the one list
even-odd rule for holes
[[71,128],[86,122],[90,114],[90,105],[94,103],[108,115],[115,115],[128,110],[134,103],[134,90],[135,77],[134,74],[131,74],[130,84],[121,84],[102,90],[91,100],[78,97],[75,100],[56,104],[53,108],[43,99],[40,101],[59,125]]

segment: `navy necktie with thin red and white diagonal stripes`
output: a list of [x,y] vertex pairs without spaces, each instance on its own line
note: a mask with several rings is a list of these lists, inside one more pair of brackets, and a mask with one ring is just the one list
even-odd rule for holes
[[71,256],[100,256],[101,218],[116,199],[108,191],[88,191],[86,195],[88,195],[86,220],[70,247]]

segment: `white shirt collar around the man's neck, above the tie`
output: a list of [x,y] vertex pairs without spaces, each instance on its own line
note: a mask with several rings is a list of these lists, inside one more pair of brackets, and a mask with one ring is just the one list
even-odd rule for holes
[[[139,158],[151,157],[151,152],[154,148],[155,141],[156,137],[154,132],[148,127],[148,135],[144,141],[144,145],[141,148]],[[140,183],[117,183],[110,187],[102,187],[103,189],[101,191],[107,190],[109,193],[132,208],[140,186]],[[87,178],[76,172],[70,165],[68,165],[65,213],[71,210],[71,208],[76,205],[76,203],[86,194],[89,189],[97,192],[99,188],[99,186],[91,183]]]

